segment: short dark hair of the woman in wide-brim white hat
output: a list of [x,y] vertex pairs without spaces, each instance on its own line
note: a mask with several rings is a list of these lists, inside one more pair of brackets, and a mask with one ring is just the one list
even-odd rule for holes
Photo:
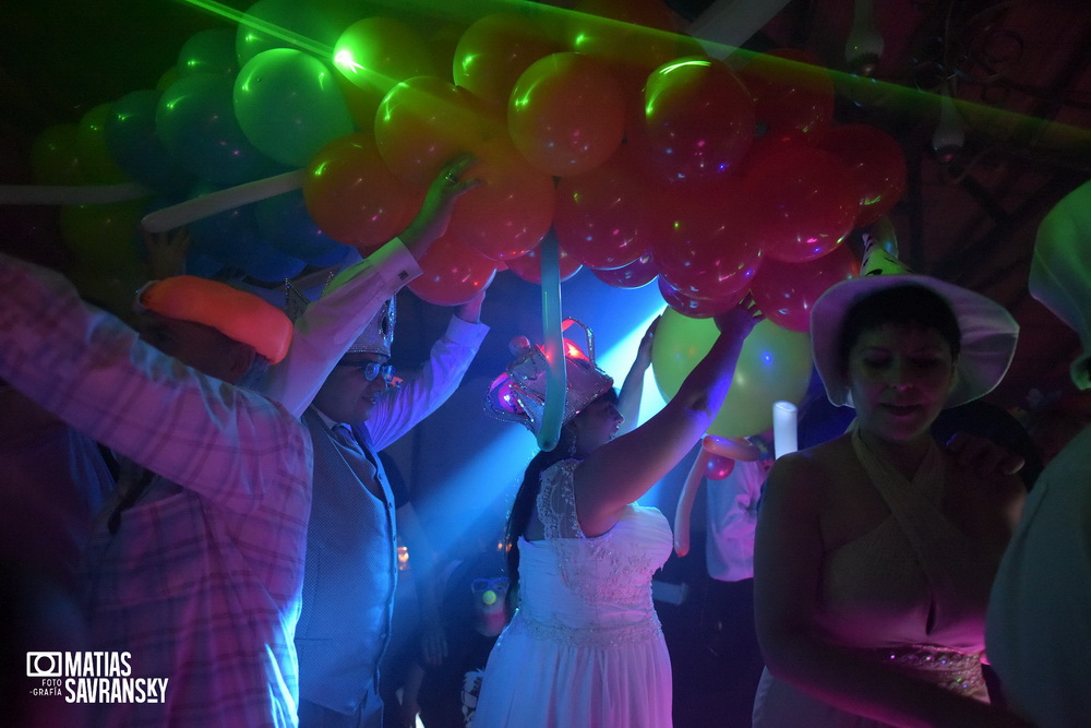
[[950,303],[931,288],[907,283],[876,291],[849,308],[837,339],[837,356],[841,371],[848,367],[849,351],[860,335],[887,323],[935,329],[950,347],[951,359],[958,358],[962,331]]

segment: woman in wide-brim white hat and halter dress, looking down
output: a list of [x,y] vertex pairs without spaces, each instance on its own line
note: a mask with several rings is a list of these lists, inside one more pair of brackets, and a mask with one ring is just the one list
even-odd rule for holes
[[754,725],[1026,725],[988,705],[981,670],[988,589],[1024,489],[962,467],[930,431],[999,383],[1018,326],[983,296],[898,272],[835,285],[811,326],[830,402],[856,417],[769,475]]

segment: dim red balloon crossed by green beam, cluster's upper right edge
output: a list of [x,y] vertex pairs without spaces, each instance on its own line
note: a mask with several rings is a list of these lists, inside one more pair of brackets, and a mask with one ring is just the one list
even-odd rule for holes
[[817,135],[834,119],[834,80],[814,53],[778,48],[755,58],[739,77],[770,131]]

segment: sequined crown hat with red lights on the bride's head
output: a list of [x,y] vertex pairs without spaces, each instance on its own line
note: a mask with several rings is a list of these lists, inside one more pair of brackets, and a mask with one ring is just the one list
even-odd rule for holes
[[[591,330],[575,319],[565,319],[561,327],[565,331],[573,325],[583,329],[587,337],[587,353],[572,341],[564,339],[567,386],[562,422],[571,420],[613,386],[613,379],[595,363]],[[485,411],[496,419],[519,422],[538,434],[546,410],[546,353],[525,336],[512,339],[511,347],[515,360],[489,385]]]

